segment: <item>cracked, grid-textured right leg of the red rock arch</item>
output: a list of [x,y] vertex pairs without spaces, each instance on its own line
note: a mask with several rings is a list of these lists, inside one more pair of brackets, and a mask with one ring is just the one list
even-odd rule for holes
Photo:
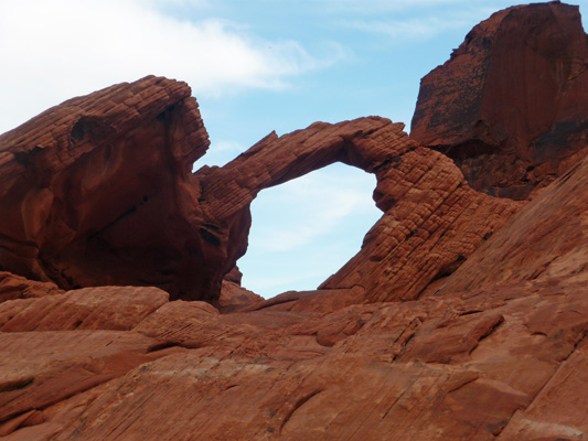
[[521,207],[468,187],[445,155],[417,148],[381,169],[376,203],[387,208],[361,251],[322,289],[361,287],[370,301],[413,300],[455,271]]

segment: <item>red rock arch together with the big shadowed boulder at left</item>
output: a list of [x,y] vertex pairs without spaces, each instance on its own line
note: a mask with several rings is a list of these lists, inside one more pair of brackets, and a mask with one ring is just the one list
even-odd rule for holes
[[184,83],[150,76],[71,99],[0,137],[0,266],[63,289],[156,286],[215,302],[246,251],[256,195],[343,162],[375,174],[383,216],[322,289],[413,299],[518,204],[470,190],[403,128],[317,122],[191,173],[209,140]]

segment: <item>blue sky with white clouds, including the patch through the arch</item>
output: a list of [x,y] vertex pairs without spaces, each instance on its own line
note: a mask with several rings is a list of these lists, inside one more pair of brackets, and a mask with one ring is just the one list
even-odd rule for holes
[[[0,0],[0,133],[146,75],[185,80],[210,133],[195,169],[272,130],[377,115],[409,128],[419,80],[503,0]],[[584,12],[580,8],[580,12]],[[586,19],[584,19],[586,28]],[[252,205],[243,284],[308,290],[382,213],[375,178],[334,164]]]

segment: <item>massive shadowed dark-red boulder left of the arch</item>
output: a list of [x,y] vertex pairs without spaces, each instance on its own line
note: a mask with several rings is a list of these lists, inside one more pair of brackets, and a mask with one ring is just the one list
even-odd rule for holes
[[191,169],[209,141],[190,95],[184,83],[147,77],[1,136],[0,266],[64,289],[202,291]]

